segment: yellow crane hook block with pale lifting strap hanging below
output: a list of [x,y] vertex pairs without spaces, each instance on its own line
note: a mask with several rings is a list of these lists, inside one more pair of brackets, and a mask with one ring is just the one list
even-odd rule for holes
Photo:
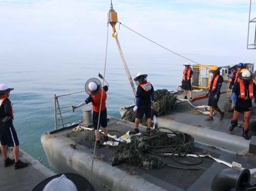
[[118,22],[118,20],[117,20],[117,12],[113,9],[113,5],[112,5],[112,1],[111,1],[110,11],[108,13],[108,23],[110,23],[110,25],[112,26],[112,30],[113,30],[112,36],[116,39],[117,48],[118,48],[118,51],[120,53],[123,65],[124,65],[124,69],[126,71],[127,77],[128,77],[128,79],[130,81],[130,84],[132,86],[132,89],[133,89],[133,92],[134,92],[134,96],[136,96],[136,90],[135,90],[135,87],[134,87],[134,83],[133,83],[133,80],[132,80],[129,68],[128,68],[125,60],[124,60],[122,49],[121,49],[121,45],[120,45],[120,42],[119,42],[118,37],[117,37],[117,32],[116,32],[116,28],[115,28],[117,22]]

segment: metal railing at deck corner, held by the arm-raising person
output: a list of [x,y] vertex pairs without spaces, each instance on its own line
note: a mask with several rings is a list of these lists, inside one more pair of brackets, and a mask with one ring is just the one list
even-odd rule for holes
[[[70,124],[70,123],[74,122],[71,124],[71,125],[74,125],[74,124],[82,121],[83,115],[82,115],[81,109],[84,107],[92,107],[91,104],[88,104],[88,105],[78,109],[78,111],[80,111],[80,112],[75,110],[74,114],[70,114],[70,112],[73,113],[72,105],[64,105],[64,106],[60,107],[60,104],[59,104],[60,98],[63,98],[65,96],[72,96],[73,94],[78,94],[78,93],[82,93],[82,92],[84,92],[84,91],[65,94],[65,95],[61,95],[61,96],[56,96],[56,94],[54,94],[54,131],[57,130],[59,126],[62,126],[62,128],[64,128],[66,124]],[[74,99],[74,98],[70,99],[70,97],[69,97],[69,101],[67,101],[67,103],[69,103],[70,100],[77,100],[77,99]],[[63,101],[61,103],[66,103],[65,99],[63,99]],[[77,105],[77,104],[78,103],[74,103],[73,105]],[[69,125],[67,125],[67,126],[69,126]]]

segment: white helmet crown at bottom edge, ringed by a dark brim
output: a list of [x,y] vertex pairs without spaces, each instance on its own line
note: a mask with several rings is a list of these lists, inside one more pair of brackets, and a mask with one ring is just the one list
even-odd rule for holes
[[52,191],[52,190],[63,190],[63,191],[77,191],[76,185],[68,179],[65,175],[61,175],[58,178],[54,178],[42,191]]

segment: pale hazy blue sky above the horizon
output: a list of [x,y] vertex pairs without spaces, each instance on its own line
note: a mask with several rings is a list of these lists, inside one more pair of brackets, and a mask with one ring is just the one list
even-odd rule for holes
[[[111,0],[0,1],[2,52],[116,52]],[[249,0],[112,0],[125,53],[255,57],[247,50]],[[256,17],[252,0],[251,18]],[[124,27],[124,26],[126,27]],[[254,32],[255,25],[251,25]],[[108,33],[109,31],[109,33]],[[253,34],[249,43],[253,43]]]

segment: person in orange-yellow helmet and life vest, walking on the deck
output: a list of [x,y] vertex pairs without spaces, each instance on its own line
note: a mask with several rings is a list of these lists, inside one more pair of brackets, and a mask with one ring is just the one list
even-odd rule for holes
[[225,112],[221,111],[218,107],[218,101],[220,99],[220,90],[223,82],[223,78],[220,75],[220,68],[216,65],[211,67],[210,72],[213,76],[210,79],[209,89],[206,93],[206,96],[209,95],[208,106],[210,106],[210,116],[205,118],[205,121],[214,121],[214,117],[212,117],[214,113],[214,109],[220,113],[220,120],[223,119]]

